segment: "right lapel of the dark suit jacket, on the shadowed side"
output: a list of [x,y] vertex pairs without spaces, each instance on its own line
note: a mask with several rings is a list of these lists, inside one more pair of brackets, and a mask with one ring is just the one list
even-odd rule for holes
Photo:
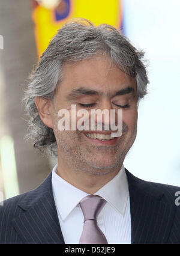
[[126,170],[131,208],[132,243],[166,243],[172,228],[175,207],[164,204],[163,193],[152,183]]

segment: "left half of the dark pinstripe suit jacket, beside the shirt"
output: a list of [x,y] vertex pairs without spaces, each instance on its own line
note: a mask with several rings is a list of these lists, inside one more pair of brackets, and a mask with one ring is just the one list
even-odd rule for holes
[[4,201],[0,243],[64,243],[52,194],[52,174],[37,189]]

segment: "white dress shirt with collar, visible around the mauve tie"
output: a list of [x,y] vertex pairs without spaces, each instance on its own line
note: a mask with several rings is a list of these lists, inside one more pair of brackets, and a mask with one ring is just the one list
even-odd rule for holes
[[[62,235],[65,243],[79,243],[83,230],[83,213],[79,202],[89,194],[56,174],[57,166],[52,171],[52,189]],[[131,243],[130,198],[124,166],[94,195],[107,201],[97,218],[98,227],[107,242]]]

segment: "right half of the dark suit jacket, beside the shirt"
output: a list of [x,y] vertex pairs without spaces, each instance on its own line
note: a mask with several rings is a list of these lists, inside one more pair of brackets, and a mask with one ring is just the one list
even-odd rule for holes
[[180,187],[128,178],[132,243],[180,243],[180,206],[175,192]]

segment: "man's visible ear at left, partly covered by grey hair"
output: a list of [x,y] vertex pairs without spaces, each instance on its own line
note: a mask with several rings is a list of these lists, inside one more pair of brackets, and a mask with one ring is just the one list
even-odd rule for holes
[[34,98],[35,105],[37,106],[39,115],[43,123],[49,127],[53,128],[52,122],[52,103],[50,99],[44,99],[43,97]]

